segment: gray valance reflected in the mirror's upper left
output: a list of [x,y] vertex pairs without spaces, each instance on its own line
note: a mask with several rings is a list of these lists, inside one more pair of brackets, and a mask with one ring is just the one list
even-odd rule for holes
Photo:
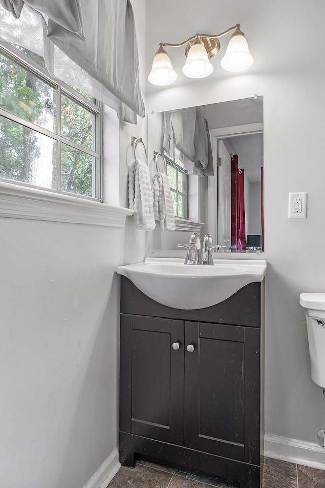
[[214,176],[208,121],[199,107],[164,112],[161,145],[172,158],[177,149],[188,173]]

